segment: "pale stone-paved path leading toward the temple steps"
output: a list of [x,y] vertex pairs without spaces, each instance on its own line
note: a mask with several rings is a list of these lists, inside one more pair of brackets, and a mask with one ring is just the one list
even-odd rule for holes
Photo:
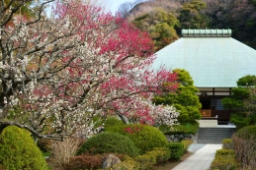
[[189,151],[195,152],[186,160],[175,166],[172,170],[208,170],[215,156],[215,150],[222,144],[193,143]]

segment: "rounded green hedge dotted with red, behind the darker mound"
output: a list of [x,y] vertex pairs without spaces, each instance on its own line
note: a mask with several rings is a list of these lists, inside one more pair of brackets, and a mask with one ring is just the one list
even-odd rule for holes
[[128,124],[118,129],[117,133],[127,136],[140,148],[141,154],[153,150],[154,147],[167,146],[167,140],[163,133],[155,127],[141,124]]

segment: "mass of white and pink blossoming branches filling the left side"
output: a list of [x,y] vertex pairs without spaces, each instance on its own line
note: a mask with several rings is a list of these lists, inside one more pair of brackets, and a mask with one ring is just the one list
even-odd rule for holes
[[16,125],[61,140],[91,133],[96,115],[153,125],[173,113],[151,103],[164,83],[175,91],[177,77],[147,69],[155,56],[146,32],[80,1],[56,1],[46,17],[52,1],[35,1],[42,8],[29,19],[12,4],[1,8],[0,131]]

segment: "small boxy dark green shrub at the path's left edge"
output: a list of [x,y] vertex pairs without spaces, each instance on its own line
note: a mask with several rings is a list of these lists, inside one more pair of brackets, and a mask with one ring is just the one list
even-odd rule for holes
[[169,142],[170,159],[179,160],[184,154],[184,144],[182,142]]

